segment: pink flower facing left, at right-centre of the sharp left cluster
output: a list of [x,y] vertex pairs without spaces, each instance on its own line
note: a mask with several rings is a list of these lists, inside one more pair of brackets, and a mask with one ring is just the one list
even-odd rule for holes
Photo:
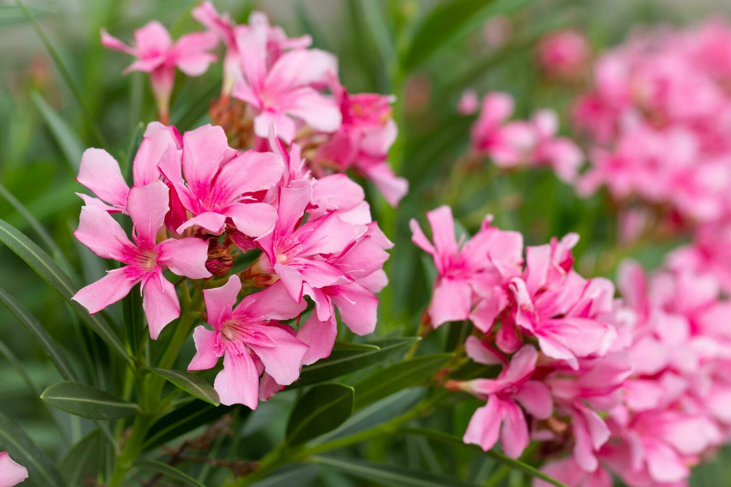
[[305,285],[317,289],[353,282],[327,257],[343,252],[365,231],[363,227],[357,232],[336,213],[327,213],[298,227],[311,200],[311,191],[306,182],[298,188],[279,188],[274,228],[257,239],[264,251],[260,258],[263,272],[278,275],[296,302],[301,301]]

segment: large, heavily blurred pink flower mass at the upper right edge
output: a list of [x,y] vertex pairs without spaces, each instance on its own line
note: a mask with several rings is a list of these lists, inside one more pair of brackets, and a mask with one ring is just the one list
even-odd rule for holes
[[575,125],[594,147],[578,190],[605,185],[618,202],[640,199],[688,223],[725,218],[730,41],[731,28],[711,21],[647,31],[604,53],[575,106]]

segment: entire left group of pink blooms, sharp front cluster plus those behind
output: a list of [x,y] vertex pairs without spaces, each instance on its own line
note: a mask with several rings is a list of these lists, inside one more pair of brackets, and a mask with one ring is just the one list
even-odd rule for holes
[[[372,180],[391,204],[406,181],[386,163],[396,134],[390,97],[349,95],[333,55],[308,49],[309,37],[289,39],[259,12],[242,26],[208,2],[193,15],[208,31],[173,43],[151,23],[135,32],[133,48],[105,32],[102,42],[135,55],[129,69],[151,72],[165,120],[175,66],[201,74],[221,40],[224,81],[213,107],[236,107],[233,96],[246,110],[235,127],[181,134],[150,123],[132,187],[109,153],[86,150],[77,181],[94,196],[79,195],[85,206],[75,236],[121,265],[73,299],[99,312],[139,283],[153,340],[181,316],[179,293],[188,313],[202,312],[195,309],[202,301],[210,328],[194,330],[188,368],[211,369],[223,357],[214,383],[221,402],[253,409],[297,380],[300,367],[330,355],[336,310],[356,334],[374,331],[375,294],[387,285],[382,266],[393,244],[344,172]],[[232,133],[242,126],[246,137]],[[230,139],[240,143],[230,147]],[[131,239],[115,213],[129,216]],[[230,274],[239,258],[251,264]],[[190,285],[197,295],[189,296]]]

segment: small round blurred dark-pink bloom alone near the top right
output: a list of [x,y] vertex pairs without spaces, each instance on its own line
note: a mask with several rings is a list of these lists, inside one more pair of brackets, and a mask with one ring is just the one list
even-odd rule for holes
[[575,79],[589,61],[586,37],[573,30],[553,32],[538,44],[538,64],[556,77]]

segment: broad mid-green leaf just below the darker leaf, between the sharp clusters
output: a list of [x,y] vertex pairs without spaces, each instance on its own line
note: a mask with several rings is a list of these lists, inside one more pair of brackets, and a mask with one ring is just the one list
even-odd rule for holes
[[436,353],[411,358],[376,370],[353,386],[357,391],[355,409],[359,410],[402,389],[424,386],[450,358],[451,353]]

